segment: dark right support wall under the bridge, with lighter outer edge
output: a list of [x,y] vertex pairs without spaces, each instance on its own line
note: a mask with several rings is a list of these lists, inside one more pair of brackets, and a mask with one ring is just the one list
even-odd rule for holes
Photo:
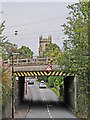
[[64,102],[72,109],[77,107],[77,76],[64,78]]

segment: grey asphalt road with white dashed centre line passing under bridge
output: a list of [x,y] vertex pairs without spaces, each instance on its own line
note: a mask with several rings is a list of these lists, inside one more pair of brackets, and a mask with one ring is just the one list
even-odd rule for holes
[[76,118],[51,89],[39,88],[37,81],[28,86],[32,104],[26,118]]

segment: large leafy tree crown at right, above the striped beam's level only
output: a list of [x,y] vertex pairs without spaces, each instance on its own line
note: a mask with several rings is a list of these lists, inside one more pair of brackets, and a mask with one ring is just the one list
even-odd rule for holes
[[88,3],[79,2],[68,8],[71,9],[70,16],[67,17],[67,24],[62,25],[68,39],[64,40],[64,52],[59,64],[62,63],[69,71],[78,71],[79,74],[80,69],[87,69],[88,63]]

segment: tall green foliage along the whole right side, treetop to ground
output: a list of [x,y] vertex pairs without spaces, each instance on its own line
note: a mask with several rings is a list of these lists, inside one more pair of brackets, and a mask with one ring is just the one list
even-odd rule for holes
[[68,36],[64,40],[64,51],[58,59],[62,71],[78,74],[78,109],[80,117],[88,114],[88,8],[90,3],[79,2],[68,5],[70,9],[64,33]]

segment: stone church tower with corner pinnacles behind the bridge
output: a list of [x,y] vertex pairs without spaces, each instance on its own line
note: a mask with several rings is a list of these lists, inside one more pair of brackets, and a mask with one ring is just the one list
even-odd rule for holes
[[46,46],[51,42],[51,36],[48,36],[48,38],[42,38],[42,36],[39,37],[39,56],[42,56],[43,52],[46,50]]

